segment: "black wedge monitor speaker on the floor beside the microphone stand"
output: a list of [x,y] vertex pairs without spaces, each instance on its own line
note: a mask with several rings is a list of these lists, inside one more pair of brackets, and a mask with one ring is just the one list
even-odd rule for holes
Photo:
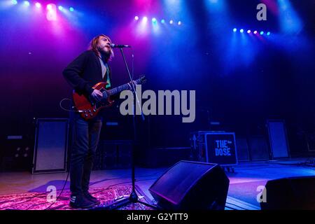
[[149,191],[158,207],[172,210],[224,210],[230,180],[217,164],[179,161]]

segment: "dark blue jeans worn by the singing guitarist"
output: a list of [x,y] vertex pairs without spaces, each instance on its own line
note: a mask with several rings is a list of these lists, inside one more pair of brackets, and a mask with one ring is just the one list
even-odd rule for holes
[[80,195],[89,189],[102,118],[96,117],[86,121],[78,113],[74,113],[71,120],[73,141],[70,159],[70,190],[71,195]]

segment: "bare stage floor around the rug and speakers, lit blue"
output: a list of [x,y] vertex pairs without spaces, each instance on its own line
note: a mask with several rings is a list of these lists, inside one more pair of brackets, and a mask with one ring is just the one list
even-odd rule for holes
[[[260,205],[256,200],[258,186],[267,181],[283,177],[314,176],[315,167],[305,165],[307,158],[272,160],[260,162],[239,162],[235,172],[226,172],[230,179],[228,199],[225,209],[256,210]],[[153,197],[148,188],[168,167],[147,169],[136,168],[136,185],[142,200],[151,202]],[[30,174],[29,172],[0,173],[0,196],[18,193],[45,193],[48,186],[59,190],[64,186],[67,173]],[[90,188],[109,188],[110,186],[130,185],[131,169],[106,169],[93,171]],[[69,190],[69,181],[66,183]],[[1,203],[1,202],[0,202]]]

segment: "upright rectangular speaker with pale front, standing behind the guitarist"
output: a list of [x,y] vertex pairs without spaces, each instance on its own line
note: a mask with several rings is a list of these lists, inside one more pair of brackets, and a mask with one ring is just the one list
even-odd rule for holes
[[33,174],[66,172],[69,120],[38,118],[34,144]]

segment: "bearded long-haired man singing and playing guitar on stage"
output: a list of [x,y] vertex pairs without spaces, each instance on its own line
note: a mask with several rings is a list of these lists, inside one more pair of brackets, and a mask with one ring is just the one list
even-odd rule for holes
[[[111,87],[111,70],[108,62],[113,57],[111,39],[100,34],[90,42],[88,50],[73,60],[63,71],[64,78],[78,93],[99,101],[103,94],[92,86],[107,82]],[[90,208],[99,204],[97,198],[88,192],[92,160],[99,142],[102,117],[84,120],[79,113],[73,115],[73,143],[70,159],[70,206]]]

